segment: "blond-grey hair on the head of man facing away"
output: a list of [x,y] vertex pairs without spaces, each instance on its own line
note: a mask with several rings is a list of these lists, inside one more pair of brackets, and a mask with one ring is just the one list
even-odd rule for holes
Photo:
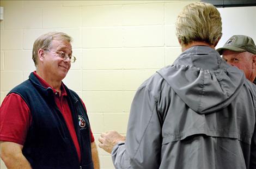
[[188,45],[193,41],[216,45],[222,36],[220,12],[209,3],[186,5],[176,21],[176,36],[181,45]]

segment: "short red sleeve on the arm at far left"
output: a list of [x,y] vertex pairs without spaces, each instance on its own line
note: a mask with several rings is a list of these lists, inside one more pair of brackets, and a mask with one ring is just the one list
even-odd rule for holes
[[10,93],[1,105],[0,140],[24,145],[32,116],[26,102],[16,93]]

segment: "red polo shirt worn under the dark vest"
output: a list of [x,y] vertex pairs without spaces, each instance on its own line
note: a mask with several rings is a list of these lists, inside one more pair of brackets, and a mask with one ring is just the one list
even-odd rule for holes
[[[33,73],[39,79],[39,82],[42,84],[42,86],[46,88],[51,87],[47,82],[45,82],[44,79],[39,77],[38,74],[35,73],[35,71]],[[62,112],[62,115],[66,122],[66,126],[68,126],[70,135],[72,137],[72,140],[74,141],[78,158],[79,160],[81,160],[80,146],[77,140],[73,118],[68,105],[68,100],[66,98],[67,93],[65,91],[64,85],[62,83],[62,86],[60,88],[60,95],[59,92],[53,89],[53,87],[51,87],[51,89],[55,93],[54,100],[57,104],[58,109],[60,110],[60,112]],[[84,108],[86,109],[85,105]],[[17,95],[16,93],[11,93],[10,95],[4,98],[3,103],[1,105],[0,122],[1,141],[10,141],[18,143],[20,145],[24,145],[28,128],[32,122],[32,116],[31,111],[28,108],[28,105],[21,98],[20,95]],[[90,134],[91,142],[94,142],[94,136],[92,134],[92,131],[90,132]]]

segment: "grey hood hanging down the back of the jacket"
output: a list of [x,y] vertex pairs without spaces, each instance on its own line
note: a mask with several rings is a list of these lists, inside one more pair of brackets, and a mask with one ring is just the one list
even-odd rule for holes
[[227,107],[239,93],[245,75],[208,46],[193,46],[157,71],[188,107],[208,114]]

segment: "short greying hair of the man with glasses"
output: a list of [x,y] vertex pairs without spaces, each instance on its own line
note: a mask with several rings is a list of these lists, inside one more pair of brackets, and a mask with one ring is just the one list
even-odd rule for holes
[[70,43],[72,41],[72,37],[63,32],[48,32],[39,36],[38,39],[36,39],[34,42],[32,51],[32,59],[35,63],[35,66],[37,65],[38,50],[50,49],[52,40],[66,41]]

